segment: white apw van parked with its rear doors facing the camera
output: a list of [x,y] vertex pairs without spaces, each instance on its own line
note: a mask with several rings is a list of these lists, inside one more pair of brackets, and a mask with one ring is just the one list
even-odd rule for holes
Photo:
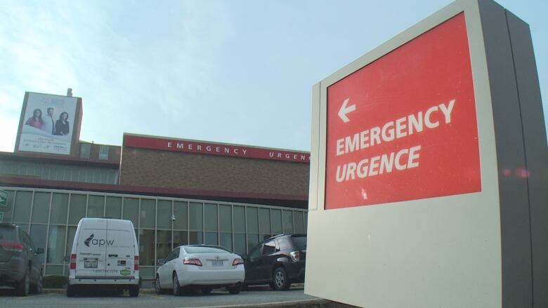
[[67,296],[86,286],[109,286],[138,296],[138,247],[130,220],[82,218],[70,253]]

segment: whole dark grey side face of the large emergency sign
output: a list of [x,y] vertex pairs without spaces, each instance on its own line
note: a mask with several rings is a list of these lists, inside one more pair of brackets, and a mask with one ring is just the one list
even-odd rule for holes
[[533,45],[525,22],[492,1],[479,4],[499,170],[502,307],[546,307],[546,138]]

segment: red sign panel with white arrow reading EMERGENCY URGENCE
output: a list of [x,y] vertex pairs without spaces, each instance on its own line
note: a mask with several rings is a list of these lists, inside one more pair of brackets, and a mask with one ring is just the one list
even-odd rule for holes
[[325,209],[481,191],[464,13],[327,88]]

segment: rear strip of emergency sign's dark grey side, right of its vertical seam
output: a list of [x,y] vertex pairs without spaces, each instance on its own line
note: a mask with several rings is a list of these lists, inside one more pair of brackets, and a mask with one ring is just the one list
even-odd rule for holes
[[506,11],[523,127],[529,194],[533,307],[548,307],[548,155],[542,100],[529,26]]

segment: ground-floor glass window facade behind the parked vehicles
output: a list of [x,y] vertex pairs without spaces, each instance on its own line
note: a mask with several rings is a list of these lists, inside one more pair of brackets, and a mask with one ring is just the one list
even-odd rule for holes
[[158,258],[187,243],[221,245],[239,255],[273,234],[306,233],[306,210],[155,196],[0,187],[8,191],[2,222],[29,232],[46,275],[67,275],[68,256],[82,217],[131,220],[141,276],[153,278]]

